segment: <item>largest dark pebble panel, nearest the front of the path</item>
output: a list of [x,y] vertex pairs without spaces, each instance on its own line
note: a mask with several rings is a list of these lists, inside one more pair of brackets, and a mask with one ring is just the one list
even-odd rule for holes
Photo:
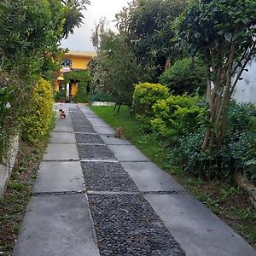
[[182,256],[166,226],[142,195],[89,195],[102,256]]

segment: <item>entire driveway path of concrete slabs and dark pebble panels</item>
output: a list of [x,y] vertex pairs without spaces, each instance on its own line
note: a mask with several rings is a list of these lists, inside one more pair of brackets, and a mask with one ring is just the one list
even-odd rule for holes
[[256,255],[89,108],[59,108],[16,256]]

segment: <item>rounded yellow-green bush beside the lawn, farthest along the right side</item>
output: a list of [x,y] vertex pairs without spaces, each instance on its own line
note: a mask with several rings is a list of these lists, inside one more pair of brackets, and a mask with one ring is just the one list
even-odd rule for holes
[[142,122],[144,130],[151,129],[151,119],[154,118],[153,105],[169,96],[166,86],[161,84],[137,84],[133,93],[132,110],[136,118]]

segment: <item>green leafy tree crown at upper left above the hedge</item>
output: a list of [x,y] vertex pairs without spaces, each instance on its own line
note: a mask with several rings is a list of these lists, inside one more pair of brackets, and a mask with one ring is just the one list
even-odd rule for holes
[[[0,60],[9,70],[20,66],[27,77],[48,73],[60,55],[61,39],[79,26],[88,1],[31,0],[0,2]],[[69,14],[73,12],[74,19]],[[80,15],[79,15],[80,14]],[[67,25],[68,24],[68,25]],[[46,64],[46,65],[45,65]],[[44,69],[42,70],[41,69]]]

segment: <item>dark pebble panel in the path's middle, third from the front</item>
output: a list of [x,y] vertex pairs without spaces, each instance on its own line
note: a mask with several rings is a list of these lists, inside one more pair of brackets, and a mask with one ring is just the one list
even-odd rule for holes
[[78,149],[82,160],[116,160],[106,145],[78,145]]

